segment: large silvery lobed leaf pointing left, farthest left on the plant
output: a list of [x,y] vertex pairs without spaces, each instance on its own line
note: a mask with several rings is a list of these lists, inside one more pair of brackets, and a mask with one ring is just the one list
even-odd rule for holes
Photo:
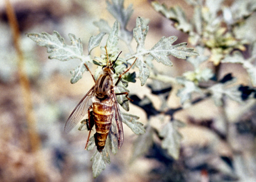
[[47,47],[47,53],[50,53],[49,59],[58,59],[60,61],[68,61],[74,58],[81,59],[82,42],[81,39],[77,39],[73,34],[69,34],[71,45],[67,45],[63,37],[56,31],[52,35],[45,32],[27,35],[36,44]]

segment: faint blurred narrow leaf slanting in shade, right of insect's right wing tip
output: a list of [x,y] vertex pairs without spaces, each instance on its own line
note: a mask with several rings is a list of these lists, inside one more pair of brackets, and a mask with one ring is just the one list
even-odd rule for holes
[[153,134],[154,129],[150,125],[147,125],[145,134],[139,135],[134,142],[131,162],[144,155],[153,145]]

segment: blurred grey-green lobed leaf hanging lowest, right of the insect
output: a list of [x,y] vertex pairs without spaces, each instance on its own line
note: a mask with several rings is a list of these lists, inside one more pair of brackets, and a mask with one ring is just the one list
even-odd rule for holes
[[179,158],[180,142],[182,139],[178,128],[183,126],[184,123],[174,120],[168,122],[159,133],[159,136],[164,138],[162,141],[162,148],[167,149],[168,154],[176,160]]

